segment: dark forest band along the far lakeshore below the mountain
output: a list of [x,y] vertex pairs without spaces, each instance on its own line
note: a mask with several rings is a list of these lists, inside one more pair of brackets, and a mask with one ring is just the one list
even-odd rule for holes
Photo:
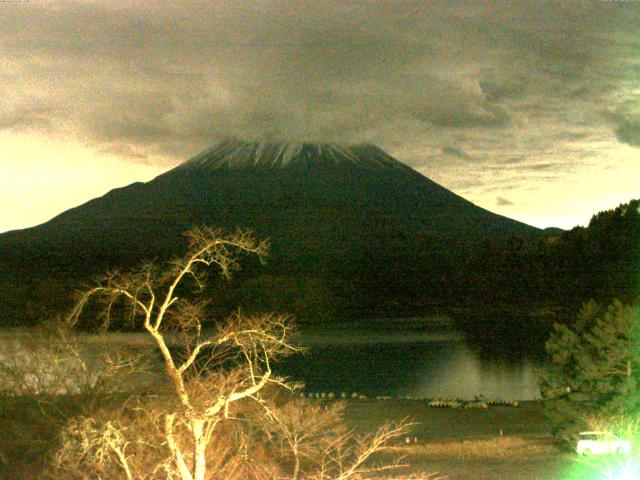
[[[317,248],[306,252],[275,244],[266,269],[246,265],[224,288],[213,279],[210,308],[212,315],[224,315],[240,305],[249,311],[291,313],[301,322],[329,323],[449,313],[480,341],[506,336],[543,342],[551,323],[569,321],[591,298],[637,300],[639,207],[640,200],[632,200],[597,213],[587,227],[566,232],[477,243],[372,235],[350,251],[332,249],[320,239]],[[49,318],[70,305],[74,289],[92,276],[141,260],[121,253],[80,256],[74,263],[49,253],[0,265],[2,325]],[[168,257],[170,251],[157,260]],[[496,331],[500,325],[502,334]]]

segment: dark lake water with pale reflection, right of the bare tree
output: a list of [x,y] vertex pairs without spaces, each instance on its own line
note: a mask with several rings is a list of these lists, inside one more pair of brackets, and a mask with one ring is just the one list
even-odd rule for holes
[[304,382],[307,392],[487,400],[540,396],[533,360],[508,352],[480,355],[450,327],[393,334],[316,330],[303,333],[302,343],[307,352],[286,359],[278,373]]

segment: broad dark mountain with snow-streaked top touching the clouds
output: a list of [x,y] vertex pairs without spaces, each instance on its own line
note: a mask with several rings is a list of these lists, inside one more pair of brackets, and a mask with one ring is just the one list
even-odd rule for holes
[[2,235],[0,248],[5,258],[43,248],[63,257],[71,250],[84,258],[157,255],[173,252],[194,224],[252,228],[292,256],[371,241],[464,242],[537,231],[473,205],[371,145],[226,141],[151,182]]

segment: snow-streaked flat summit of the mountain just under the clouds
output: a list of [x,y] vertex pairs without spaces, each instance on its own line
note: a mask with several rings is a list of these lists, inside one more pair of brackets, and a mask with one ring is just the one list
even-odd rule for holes
[[348,164],[366,169],[407,168],[371,144],[250,142],[227,139],[179,165],[176,170],[277,169],[317,164]]

